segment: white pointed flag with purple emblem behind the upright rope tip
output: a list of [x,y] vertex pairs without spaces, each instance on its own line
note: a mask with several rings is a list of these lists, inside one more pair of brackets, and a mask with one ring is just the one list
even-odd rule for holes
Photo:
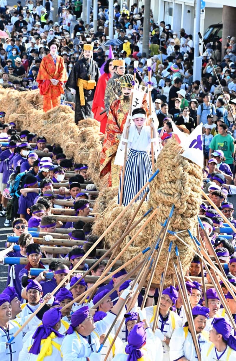
[[202,124],[198,125],[186,138],[183,148],[182,157],[203,167]]

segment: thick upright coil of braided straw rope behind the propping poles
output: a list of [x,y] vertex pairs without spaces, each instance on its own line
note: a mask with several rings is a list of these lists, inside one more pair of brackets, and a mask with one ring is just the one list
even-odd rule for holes
[[[183,149],[179,143],[171,138],[160,152],[155,165],[155,170],[159,169],[159,173],[150,184],[149,208],[151,206],[153,208],[158,207],[158,211],[147,228],[149,245],[153,244],[155,236],[158,235],[162,228],[161,223],[163,224],[170,214],[173,204],[175,210],[169,230],[178,232],[189,229],[193,235],[197,236],[197,214],[202,202],[200,192],[202,170],[198,165],[182,157],[182,152]],[[181,232],[179,236],[186,244],[192,246],[188,231]],[[183,271],[189,269],[194,252],[175,236],[167,233],[164,248],[156,268],[154,283],[160,282],[171,240],[173,241],[171,258],[176,261],[175,245],[177,245]],[[170,263],[166,280],[170,280],[172,273],[173,269]]]

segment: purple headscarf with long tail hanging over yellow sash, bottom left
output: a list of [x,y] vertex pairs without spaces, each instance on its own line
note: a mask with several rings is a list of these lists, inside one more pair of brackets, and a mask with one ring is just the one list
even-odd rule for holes
[[39,326],[34,332],[34,335],[32,336],[34,342],[29,350],[29,353],[38,355],[40,353],[41,340],[47,339],[52,332],[54,332],[57,337],[64,337],[64,335],[61,335],[58,331],[53,329],[53,326],[60,321],[61,317],[62,314],[59,307],[51,308],[50,310],[44,312],[43,325]]

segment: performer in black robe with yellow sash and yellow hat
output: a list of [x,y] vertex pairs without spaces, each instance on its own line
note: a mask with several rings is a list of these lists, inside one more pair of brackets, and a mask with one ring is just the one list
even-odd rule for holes
[[99,77],[98,64],[92,59],[92,44],[83,45],[83,55],[84,57],[74,64],[65,84],[66,89],[76,97],[74,112],[74,122],[76,124],[81,119],[92,117],[91,108]]

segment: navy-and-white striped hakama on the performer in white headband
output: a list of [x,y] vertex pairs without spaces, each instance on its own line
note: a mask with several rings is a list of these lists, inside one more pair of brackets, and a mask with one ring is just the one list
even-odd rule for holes
[[[122,172],[121,172],[122,174]],[[126,206],[133,199],[133,197],[140,191],[144,184],[150,178],[152,174],[152,166],[149,155],[146,151],[136,151],[130,149],[126,160],[125,167],[125,178],[124,178],[124,190],[123,190],[123,202]],[[121,176],[122,177],[122,176]],[[120,188],[121,188],[121,177],[119,184],[118,201],[120,202]],[[136,202],[141,200],[144,196],[145,190],[137,197]],[[146,200],[148,197],[146,197]]]

